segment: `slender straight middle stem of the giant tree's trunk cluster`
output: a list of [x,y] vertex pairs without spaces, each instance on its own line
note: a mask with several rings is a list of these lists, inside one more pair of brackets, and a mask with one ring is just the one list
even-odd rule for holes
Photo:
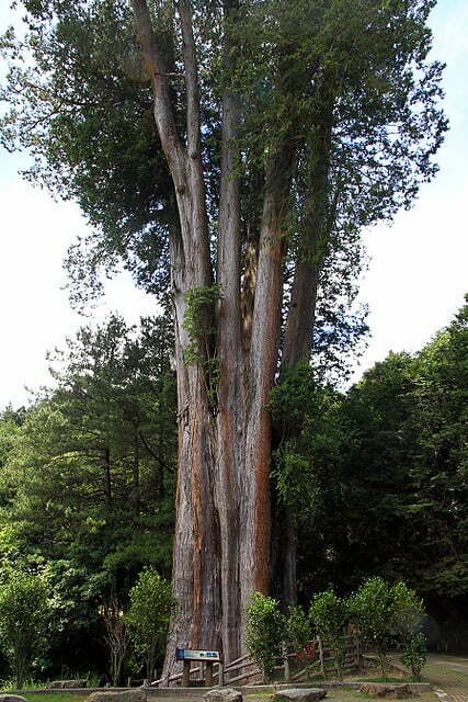
[[[225,16],[237,10],[237,0],[225,0]],[[228,61],[230,43],[225,43]],[[244,463],[246,369],[241,346],[240,308],[240,182],[232,177],[238,158],[235,146],[240,110],[232,92],[222,99],[221,182],[219,190],[219,238],[217,280],[222,291],[218,306],[218,415],[216,501],[219,516],[221,570],[221,631],[226,660],[235,659],[241,647],[239,590],[241,573],[240,486]]]

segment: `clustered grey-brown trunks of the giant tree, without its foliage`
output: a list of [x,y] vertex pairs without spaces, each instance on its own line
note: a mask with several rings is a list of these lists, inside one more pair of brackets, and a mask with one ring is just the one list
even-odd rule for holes
[[[237,4],[237,0],[224,0],[227,21]],[[265,166],[253,308],[251,321],[246,325],[241,310],[240,183],[235,174],[240,110],[237,95],[226,90],[216,275],[220,294],[212,309],[205,310],[207,326],[216,326],[216,337],[204,337],[201,332],[198,361],[186,365],[184,350],[194,341],[184,325],[187,293],[210,288],[214,279],[191,7],[187,0],[178,3],[186,87],[184,144],[176,132],[167,68],[146,1],[133,0],[133,5],[178,211],[170,252],[179,404],[173,555],[179,607],[169,634],[163,670],[167,676],[174,665],[176,645],[219,648],[225,660],[238,657],[243,650],[249,599],[253,591],[267,592],[270,588],[272,427],[267,403],[278,367],[283,222],[289,197],[293,147],[284,136]],[[225,59],[230,48],[227,34]],[[213,359],[219,374],[216,398],[210,377]]]

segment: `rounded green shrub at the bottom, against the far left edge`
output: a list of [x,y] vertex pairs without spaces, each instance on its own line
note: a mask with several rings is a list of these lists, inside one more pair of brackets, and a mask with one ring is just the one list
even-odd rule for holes
[[47,613],[43,578],[11,571],[0,588],[0,645],[18,688],[26,680],[33,657],[44,654]]

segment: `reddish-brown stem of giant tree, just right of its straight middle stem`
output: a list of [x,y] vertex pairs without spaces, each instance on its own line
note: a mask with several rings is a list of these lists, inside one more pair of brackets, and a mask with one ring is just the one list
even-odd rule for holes
[[[253,591],[270,589],[270,392],[277,369],[283,294],[282,259],[285,248],[283,219],[289,189],[290,148],[283,145],[270,160],[265,174],[260,233],[255,301],[250,344],[250,397],[246,435],[246,464],[241,522],[241,610]],[[243,635],[244,621],[241,620]]]

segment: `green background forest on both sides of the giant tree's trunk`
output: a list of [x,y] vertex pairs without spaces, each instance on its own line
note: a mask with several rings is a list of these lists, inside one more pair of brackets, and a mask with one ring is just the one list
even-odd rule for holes
[[[83,328],[54,354],[56,387],[1,415],[1,578],[41,573],[50,599],[36,676],[109,673],[103,602],[126,609],[145,567],[171,575],[171,343],[161,319]],[[346,393],[303,367],[271,411],[297,429],[272,479],[297,521],[299,602],[374,575],[403,579],[438,623],[432,645],[466,650],[468,305],[419,353],[390,353]],[[124,669],[139,673],[138,661]]]

